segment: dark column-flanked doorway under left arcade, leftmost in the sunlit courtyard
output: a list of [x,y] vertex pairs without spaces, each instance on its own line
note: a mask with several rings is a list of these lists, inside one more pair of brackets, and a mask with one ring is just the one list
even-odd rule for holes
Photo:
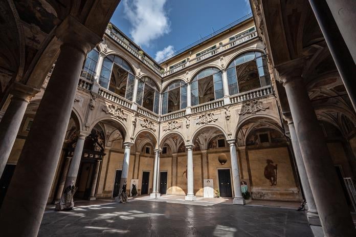
[[78,187],[75,197],[79,199],[87,199],[90,197],[92,182],[94,176],[94,162],[81,162],[77,177],[76,186]]

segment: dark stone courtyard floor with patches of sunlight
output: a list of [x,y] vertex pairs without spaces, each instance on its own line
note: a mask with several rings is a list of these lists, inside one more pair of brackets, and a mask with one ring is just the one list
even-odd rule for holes
[[38,236],[120,235],[313,236],[305,214],[294,209],[149,198],[77,202],[62,212],[49,206]]

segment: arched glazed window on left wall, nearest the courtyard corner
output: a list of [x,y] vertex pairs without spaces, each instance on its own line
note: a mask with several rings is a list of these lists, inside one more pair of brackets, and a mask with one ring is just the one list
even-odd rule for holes
[[137,88],[136,103],[158,114],[160,102],[160,92],[157,89],[157,85],[149,77],[142,77],[139,79]]

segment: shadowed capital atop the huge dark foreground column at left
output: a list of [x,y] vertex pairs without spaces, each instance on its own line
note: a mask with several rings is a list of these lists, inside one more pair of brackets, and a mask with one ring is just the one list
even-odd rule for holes
[[70,45],[84,54],[91,51],[102,37],[81,24],[76,18],[68,15],[55,31],[63,45]]

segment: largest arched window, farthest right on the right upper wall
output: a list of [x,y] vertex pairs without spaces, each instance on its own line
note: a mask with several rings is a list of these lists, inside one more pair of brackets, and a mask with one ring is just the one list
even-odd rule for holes
[[271,84],[266,58],[260,52],[239,55],[230,63],[226,73],[230,95]]

